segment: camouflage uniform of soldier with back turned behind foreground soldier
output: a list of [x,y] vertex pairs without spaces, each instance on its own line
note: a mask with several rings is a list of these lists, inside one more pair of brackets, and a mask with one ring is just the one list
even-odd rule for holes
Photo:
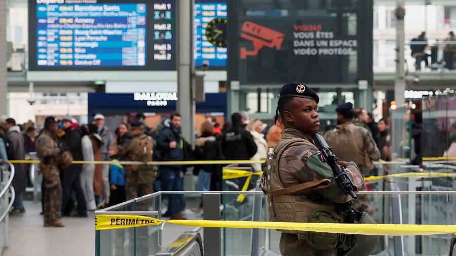
[[[335,136],[337,136],[336,129],[348,129],[353,132],[357,148],[350,148],[347,145],[337,143]],[[364,127],[360,122],[347,122],[338,125],[333,131],[325,134],[326,142],[332,147],[332,152],[340,161],[354,161],[361,169],[365,176],[369,176],[372,170],[372,161],[377,161],[380,158],[380,151],[372,138],[370,130]],[[350,144],[349,144],[350,145]],[[355,145],[351,144],[353,147]],[[363,155],[362,157],[357,157]],[[361,191],[366,190],[363,186]],[[368,214],[373,214],[373,209],[369,206],[367,195],[359,195],[358,200],[355,201],[354,207],[360,211],[366,211]]]

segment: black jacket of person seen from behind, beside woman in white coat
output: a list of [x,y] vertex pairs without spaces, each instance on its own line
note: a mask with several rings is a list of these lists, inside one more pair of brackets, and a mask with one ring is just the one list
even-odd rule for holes
[[227,160],[248,160],[256,154],[256,144],[252,135],[240,124],[224,132],[221,138],[222,152]]

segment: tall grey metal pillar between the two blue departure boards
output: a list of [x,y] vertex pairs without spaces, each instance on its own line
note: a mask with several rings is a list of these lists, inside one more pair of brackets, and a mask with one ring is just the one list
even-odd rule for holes
[[182,135],[194,141],[195,100],[193,94],[193,9],[194,0],[177,1],[177,111],[182,115]]

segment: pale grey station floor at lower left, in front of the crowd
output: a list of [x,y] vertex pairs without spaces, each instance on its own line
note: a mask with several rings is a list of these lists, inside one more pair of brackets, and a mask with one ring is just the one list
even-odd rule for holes
[[[24,206],[25,214],[9,218],[9,246],[4,252],[5,256],[95,255],[93,212],[88,218],[63,218],[64,228],[45,228],[43,216],[40,215],[41,202],[24,201]],[[185,215],[188,219],[201,219],[201,215],[195,215],[188,209]],[[171,244],[182,232],[193,229],[195,227],[165,225],[162,245]]]

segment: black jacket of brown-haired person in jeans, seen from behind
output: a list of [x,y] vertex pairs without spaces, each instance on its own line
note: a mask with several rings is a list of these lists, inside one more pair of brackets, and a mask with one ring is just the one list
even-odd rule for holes
[[[195,140],[195,160],[220,160],[221,149],[216,137],[211,133],[203,133],[200,138]],[[193,174],[198,175],[200,170],[204,170],[206,173],[215,173],[219,164],[200,164],[195,165],[193,168]]]

